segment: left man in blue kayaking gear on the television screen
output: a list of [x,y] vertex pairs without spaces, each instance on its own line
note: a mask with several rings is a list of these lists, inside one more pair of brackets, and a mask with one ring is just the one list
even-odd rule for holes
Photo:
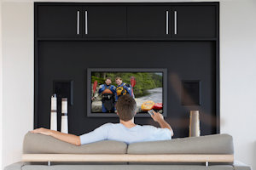
[[[115,102],[115,87],[111,85],[111,78],[107,78],[105,84],[100,86],[98,91],[102,95],[102,112],[114,112],[114,102]],[[95,97],[92,98],[92,100]]]

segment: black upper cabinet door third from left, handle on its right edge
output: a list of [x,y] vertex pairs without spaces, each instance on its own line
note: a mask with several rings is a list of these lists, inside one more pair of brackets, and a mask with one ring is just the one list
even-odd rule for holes
[[171,37],[170,8],[128,6],[127,37]]

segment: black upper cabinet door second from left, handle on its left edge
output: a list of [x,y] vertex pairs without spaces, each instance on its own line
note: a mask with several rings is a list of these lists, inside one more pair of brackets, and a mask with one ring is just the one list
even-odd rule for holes
[[125,37],[125,6],[84,7],[84,37]]

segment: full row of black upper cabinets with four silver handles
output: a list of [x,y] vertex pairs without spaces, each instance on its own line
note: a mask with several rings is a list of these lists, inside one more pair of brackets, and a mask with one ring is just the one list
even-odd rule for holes
[[[72,3],[73,4],[73,3]],[[216,38],[218,8],[206,3],[38,5],[38,38]]]

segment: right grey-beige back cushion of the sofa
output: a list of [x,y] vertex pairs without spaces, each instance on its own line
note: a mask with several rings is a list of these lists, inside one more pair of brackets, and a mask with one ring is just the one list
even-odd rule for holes
[[133,143],[128,154],[234,154],[229,134]]

